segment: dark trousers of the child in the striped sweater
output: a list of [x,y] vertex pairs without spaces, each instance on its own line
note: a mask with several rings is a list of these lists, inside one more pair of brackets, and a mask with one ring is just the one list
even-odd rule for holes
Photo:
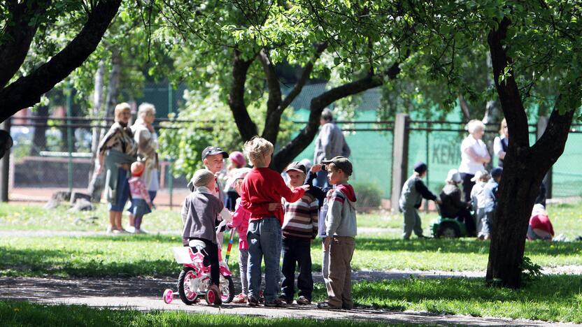
[[311,300],[313,292],[313,277],[311,276],[311,240],[306,238],[283,238],[283,283],[281,292],[292,299],[295,293],[295,263],[299,264],[297,289],[299,296]]

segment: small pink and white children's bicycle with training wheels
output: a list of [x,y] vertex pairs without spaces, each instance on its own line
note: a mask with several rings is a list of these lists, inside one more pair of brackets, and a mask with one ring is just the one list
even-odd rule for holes
[[[190,247],[197,249],[197,252],[192,252]],[[220,248],[218,249],[218,260],[220,261],[220,282],[218,289],[220,292],[215,292],[213,289],[208,290],[210,286],[210,266],[204,265],[204,242],[201,240],[191,240],[190,247],[173,247],[173,254],[176,262],[182,263],[184,267],[178,277],[178,293],[180,300],[187,305],[197,303],[197,299],[201,296],[206,298],[206,303],[209,305],[220,303],[229,303],[234,298],[234,283],[232,282],[232,273],[230,272],[227,263],[222,260]],[[170,303],[173,299],[173,292],[166,289],[164,292],[164,301]]]

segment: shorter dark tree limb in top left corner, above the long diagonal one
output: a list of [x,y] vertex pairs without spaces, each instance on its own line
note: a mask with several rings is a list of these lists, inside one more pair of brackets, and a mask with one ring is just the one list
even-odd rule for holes
[[4,87],[22,66],[42,21],[37,18],[45,14],[50,3],[50,0],[8,3],[10,19],[0,36],[0,87]]

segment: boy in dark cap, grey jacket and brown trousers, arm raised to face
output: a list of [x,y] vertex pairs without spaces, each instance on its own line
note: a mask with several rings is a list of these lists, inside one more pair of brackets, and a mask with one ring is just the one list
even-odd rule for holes
[[329,200],[325,217],[326,235],[323,247],[329,253],[327,299],[318,303],[320,309],[353,309],[351,261],[355,249],[357,223],[355,191],[348,184],[352,163],[346,157],[324,160],[329,184],[336,186]]

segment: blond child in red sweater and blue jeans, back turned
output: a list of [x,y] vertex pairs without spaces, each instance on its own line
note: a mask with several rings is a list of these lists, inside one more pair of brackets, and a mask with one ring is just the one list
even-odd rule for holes
[[[283,182],[283,177],[269,168],[273,144],[264,138],[255,136],[245,143],[245,154],[254,168],[245,177],[241,187],[241,205],[250,211],[248,225],[248,305],[259,304],[259,286],[261,284],[261,261],[264,258],[265,289],[264,305],[267,307],[284,307],[278,300],[279,273],[281,266],[281,225],[283,209],[281,198],[295,202],[303,196],[309,187],[303,185],[290,190]],[[271,206],[271,203],[279,203]]]

